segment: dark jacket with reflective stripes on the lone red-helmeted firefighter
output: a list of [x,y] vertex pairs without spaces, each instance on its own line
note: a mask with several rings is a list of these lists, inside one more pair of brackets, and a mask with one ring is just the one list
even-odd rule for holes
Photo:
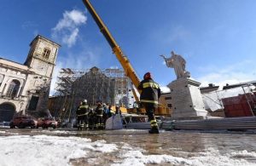
[[141,102],[158,104],[160,98],[160,86],[158,83],[154,83],[153,79],[144,79],[138,86],[138,89],[142,90],[140,97]]

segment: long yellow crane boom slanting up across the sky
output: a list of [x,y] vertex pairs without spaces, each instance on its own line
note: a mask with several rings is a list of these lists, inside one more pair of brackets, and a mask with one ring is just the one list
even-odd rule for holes
[[91,16],[96,21],[96,25],[99,26],[100,31],[102,32],[103,36],[108,41],[108,44],[110,45],[111,49],[113,50],[113,54],[116,55],[117,59],[119,60],[121,66],[124,68],[125,75],[131,79],[131,83],[135,85],[137,88],[140,79],[137,77],[137,74],[133,67],[131,66],[130,61],[123,53],[122,49],[119,47],[119,45],[116,43],[114,38],[112,37],[111,33],[108,31],[108,27],[105,26],[100,16],[96,13],[96,10],[92,7],[89,0],[83,0],[85,7],[89,10]]

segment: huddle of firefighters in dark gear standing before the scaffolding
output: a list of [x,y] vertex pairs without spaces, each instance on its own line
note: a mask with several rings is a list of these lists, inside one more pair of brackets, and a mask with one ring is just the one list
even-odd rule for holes
[[112,106],[102,103],[101,100],[96,102],[96,108],[89,106],[87,100],[83,100],[77,108],[77,127],[78,130],[83,129],[105,129],[105,123],[108,117],[112,117],[113,113],[120,113],[119,106],[113,112]]

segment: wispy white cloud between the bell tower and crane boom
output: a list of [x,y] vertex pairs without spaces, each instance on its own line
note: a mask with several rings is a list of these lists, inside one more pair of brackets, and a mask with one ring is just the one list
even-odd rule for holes
[[87,17],[83,12],[73,9],[65,11],[63,18],[58,21],[57,25],[52,28],[51,36],[56,41],[61,41],[67,44],[67,47],[72,47],[78,38],[79,26],[86,24]]

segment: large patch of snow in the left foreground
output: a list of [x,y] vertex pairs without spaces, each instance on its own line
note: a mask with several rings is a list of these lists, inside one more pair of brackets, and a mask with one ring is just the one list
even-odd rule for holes
[[116,145],[79,137],[48,135],[0,136],[0,165],[70,165],[91,152],[113,152]]

